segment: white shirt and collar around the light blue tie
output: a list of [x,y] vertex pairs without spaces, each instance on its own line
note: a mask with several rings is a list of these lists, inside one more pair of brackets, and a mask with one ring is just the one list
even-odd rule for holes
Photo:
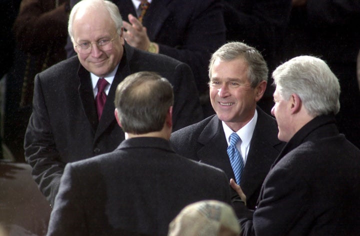
[[[241,139],[241,143],[237,142],[236,147],[240,151],[241,156],[244,159],[244,162],[246,162],[247,153],[250,147],[250,141],[252,138],[253,130],[255,129],[256,121],[257,121],[257,110],[255,109],[254,116],[252,117],[252,119],[242,128],[236,131],[237,135]],[[221,121],[221,123],[225,133],[227,145],[229,145],[229,137],[230,134],[233,133],[233,131],[225,124],[224,121]]]

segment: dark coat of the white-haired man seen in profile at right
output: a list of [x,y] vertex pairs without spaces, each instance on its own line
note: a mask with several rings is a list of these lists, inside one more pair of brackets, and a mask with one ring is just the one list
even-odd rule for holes
[[333,115],[305,124],[285,145],[243,235],[360,235],[360,150]]

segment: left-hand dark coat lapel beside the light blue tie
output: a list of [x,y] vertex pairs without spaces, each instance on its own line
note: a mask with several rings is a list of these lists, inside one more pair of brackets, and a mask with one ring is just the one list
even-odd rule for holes
[[202,145],[197,151],[199,161],[222,169],[228,178],[234,178],[230,160],[227,156],[227,142],[221,121],[214,115],[200,133],[198,143]]

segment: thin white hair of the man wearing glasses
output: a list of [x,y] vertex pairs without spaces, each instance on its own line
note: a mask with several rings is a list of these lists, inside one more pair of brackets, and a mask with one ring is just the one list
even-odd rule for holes
[[115,23],[117,34],[121,35],[122,18],[117,5],[115,5],[113,2],[108,0],[80,0],[72,7],[67,25],[67,31],[73,43],[74,43],[74,38],[73,38],[72,24],[78,9],[80,8],[96,9],[99,7],[105,8],[109,12],[111,19]]

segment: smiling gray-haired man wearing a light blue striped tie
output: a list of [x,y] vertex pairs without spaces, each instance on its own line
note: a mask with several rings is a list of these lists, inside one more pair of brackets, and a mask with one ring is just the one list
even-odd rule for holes
[[[216,166],[229,179],[239,173],[241,161],[236,181],[247,195],[249,208],[255,207],[262,181],[284,144],[277,139],[275,119],[256,106],[266,88],[267,73],[266,62],[254,47],[242,42],[222,45],[209,64],[210,100],[216,115],[177,130],[170,138],[177,153]],[[236,152],[242,157],[233,162],[234,168],[227,153],[233,132],[240,137]],[[238,197],[235,191],[233,195]],[[236,214],[240,212],[236,209]]]

